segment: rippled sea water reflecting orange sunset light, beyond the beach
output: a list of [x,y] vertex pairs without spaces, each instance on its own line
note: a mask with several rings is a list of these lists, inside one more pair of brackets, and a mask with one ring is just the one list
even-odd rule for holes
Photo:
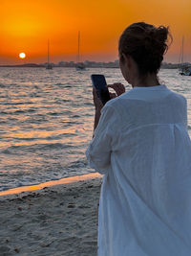
[[[94,125],[90,76],[99,73],[130,89],[119,69],[0,68],[0,191],[94,172],[85,151]],[[191,124],[191,77],[163,69],[159,80],[187,98]]]

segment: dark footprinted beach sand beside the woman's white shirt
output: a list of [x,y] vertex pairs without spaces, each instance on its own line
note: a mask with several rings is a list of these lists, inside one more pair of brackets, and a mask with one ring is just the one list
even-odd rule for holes
[[0,197],[0,255],[94,256],[101,178]]

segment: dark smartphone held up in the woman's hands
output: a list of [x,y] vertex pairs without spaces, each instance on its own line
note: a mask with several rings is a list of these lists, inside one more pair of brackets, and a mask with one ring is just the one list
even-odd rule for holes
[[103,75],[94,74],[91,76],[91,79],[93,86],[96,88],[98,98],[101,100],[102,104],[105,105],[111,100],[105,77]]

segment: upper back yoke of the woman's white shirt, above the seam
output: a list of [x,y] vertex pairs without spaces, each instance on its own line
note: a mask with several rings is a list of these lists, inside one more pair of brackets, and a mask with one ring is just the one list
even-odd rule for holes
[[[121,119],[126,118],[125,129],[151,124],[182,123],[186,126],[186,100],[165,85],[135,87],[122,94],[118,101]],[[129,125],[128,125],[129,124]],[[135,126],[134,126],[135,125]],[[130,127],[129,127],[130,126]]]

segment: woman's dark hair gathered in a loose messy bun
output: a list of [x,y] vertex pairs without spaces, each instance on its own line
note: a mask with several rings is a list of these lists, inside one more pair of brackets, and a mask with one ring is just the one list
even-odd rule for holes
[[168,37],[172,42],[169,27],[159,28],[144,23],[133,23],[127,27],[118,42],[119,58],[123,61],[122,54],[131,56],[138,64],[139,76],[148,73],[158,73],[163,60],[163,55],[168,50]]

